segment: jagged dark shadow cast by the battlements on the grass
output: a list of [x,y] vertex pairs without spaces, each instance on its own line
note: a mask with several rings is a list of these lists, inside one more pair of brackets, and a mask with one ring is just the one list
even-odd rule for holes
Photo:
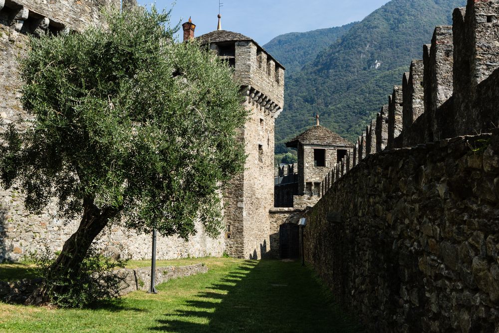
[[[186,310],[188,309],[188,310]],[[152,331],[361,332],[299,262],[246,261]]]

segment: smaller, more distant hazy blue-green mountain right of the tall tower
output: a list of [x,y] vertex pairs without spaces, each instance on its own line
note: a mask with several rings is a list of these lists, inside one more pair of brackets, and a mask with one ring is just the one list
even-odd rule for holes
[[290,75],[315,59],[320,51],[341,38],[355,23],[308,32],[281,34],[263,47],[286,67],[286,75]]

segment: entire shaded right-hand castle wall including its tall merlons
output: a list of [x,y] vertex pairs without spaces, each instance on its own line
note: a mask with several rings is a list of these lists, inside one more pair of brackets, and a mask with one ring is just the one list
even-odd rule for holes
[[305,213],[308,262],[372,332],[499,330],[499,0],[453,18]]

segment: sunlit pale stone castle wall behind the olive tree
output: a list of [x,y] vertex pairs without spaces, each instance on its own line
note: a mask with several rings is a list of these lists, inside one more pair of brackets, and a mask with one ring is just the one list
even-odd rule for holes
[[[125,1],[126,4],[133,2]],[[22,83],[17,62],[18,57],[22,57],[28,50],[26,33],[45,33],[52,28],[81,30],[101,22],[99,6],[119,4],[120,1],[116,0],[50,3],[38,0],[0,0],[0,117],[4,123],[28,116],[18,99]],[[49,24],[43,25],[42,18],[46,18]],[[41,27],[40,24],[34,24],[36,22],[41,22]],[[77,229],[78,221],[65,224],[65,221],[58,218],[55,205],[49,205],[40,215],[32,215],[24,209],[22,198],[22,189],[0,189],[0,262],[19,260],[30,252],[40,252],[45,248],[58,251]],[[158,237],[158,259],[222,256],[225,249],[224,236],[209,238],[199,222],[196,229],[198,234],[188,242],[176,237]],[[100,235],[97,243],[112,254],[129,254],[133,259],[151,257],[151,235],[138,235],[119,226],[108,228]]]

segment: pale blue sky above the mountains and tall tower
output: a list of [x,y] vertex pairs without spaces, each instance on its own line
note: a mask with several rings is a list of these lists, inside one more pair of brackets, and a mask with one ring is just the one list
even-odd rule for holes
[[[171,8],[173,0],[139,0],[140,4],[156,2],[160,8]],[[192,16],[196,35],[217,29],[218,0],[177,0],[172,22],[185,22]],[[388,0],[222,0],[222,28],[241,32],[263,45],[287,32],[329,28],[363,19]]]

